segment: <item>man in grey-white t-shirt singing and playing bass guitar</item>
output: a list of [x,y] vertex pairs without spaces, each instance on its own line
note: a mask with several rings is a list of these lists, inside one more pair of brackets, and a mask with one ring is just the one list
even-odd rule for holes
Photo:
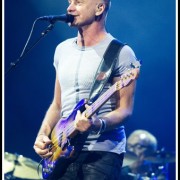
[[[78,29],[78,34],[56,48],[54,98],[34,143],[35,152],[45,160],[45,165],[48,164],[43,170],[45,178],[92,180],[119,177],[126,145],[122,124],[133,112],[135,80],[118,90],[93,116],[87,116],[90,108],[86,105],[86,111],[77,111],[73,124],[68,128],[64,125],[75,105],[81,99],[89,98],[101,59],[114,39],[105,28],[109,7],[110,0],[69,0],[67,12],[74,16],[71,26]],[[120,81],[120,76],[131,68],[132,63],[139,65],[133,50],[125,45],[112,70],[113,81],[108,80],[101,94]],[[57,133],[63,129],[60,126],[65,130]],[[73,148],[78,153],[66,157],[64,149],[69,151],[70,148],[68,142],[64,143],[64,132],[72,129],[78,132],[72,138]],[[84,139],[83,135],[87,138]],[[62,158],[57,158],[57,152],[63,154]],[[54,163],[55,167],[51,168]]]

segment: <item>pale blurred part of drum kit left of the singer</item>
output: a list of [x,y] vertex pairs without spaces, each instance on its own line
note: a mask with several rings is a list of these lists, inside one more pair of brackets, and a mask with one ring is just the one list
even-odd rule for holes
[[42,179],[42,166],[34,160],[19,154],[4,153],[3,172],[8,179]]

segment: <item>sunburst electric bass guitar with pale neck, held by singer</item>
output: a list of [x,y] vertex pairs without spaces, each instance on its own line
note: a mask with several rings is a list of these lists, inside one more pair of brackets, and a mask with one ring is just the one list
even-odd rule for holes
[[47,179],[51,173],[53,173],[59,158],[68,158],[74,153],[74,146],[71,145],[71,139],[78,134],[74,125],[77,111],[80,110],[81,112],[85,112],[85,116],[90,118],[117,90],[127,86],[132,80],[136,79],[138,75],[139,68],[129,70],[87,109],[85,109],[87,100],[82,99],[66,119],[58,121],[51,133],[52,144],[49,146],[49,151],[53,152],[53,154],[43,159],[42,176],[44,179]]

